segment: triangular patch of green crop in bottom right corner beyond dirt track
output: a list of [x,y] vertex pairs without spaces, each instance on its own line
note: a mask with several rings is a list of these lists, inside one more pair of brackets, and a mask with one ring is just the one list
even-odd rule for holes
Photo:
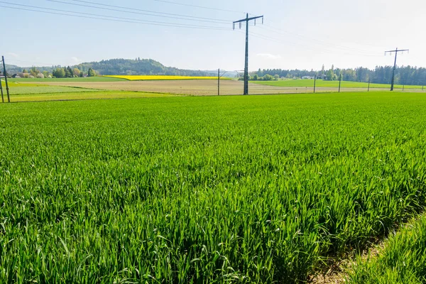
[[360,258],[349,283],[426,283],[426,217],[400,228],[377,257]]

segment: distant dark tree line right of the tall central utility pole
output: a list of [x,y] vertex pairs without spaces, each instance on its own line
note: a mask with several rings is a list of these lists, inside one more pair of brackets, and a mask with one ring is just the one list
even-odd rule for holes
[[[342,80],[354,81],[354,82],[368,82],[371,80],[372,83],[378,84],[389,84],[392,79],[393,66],[377,66],[374,70],[370,70],[364,67],[358,67],[355,69],[339,69],[332,67],[329,70],[314,71],[314,70],[283,70],[283,69],[264,69],[258,70],[257,72],[251,72],[252,80],[257,75],[258,80],[262,80],[265,75],[266,78],[281,77],[281,78],[302,78],[305,76],[324,77],[324,80],[339,80],[342,74]],[[419,84],[426,85],[426,68],[403,66],[397,67],[395,70],[395,84]]]

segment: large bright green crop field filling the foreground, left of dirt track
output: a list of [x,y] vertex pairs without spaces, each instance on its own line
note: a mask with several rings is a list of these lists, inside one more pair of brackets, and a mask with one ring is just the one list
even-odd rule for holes
[[295,283],[415,216],[426,96],[0,104],[0,282]]

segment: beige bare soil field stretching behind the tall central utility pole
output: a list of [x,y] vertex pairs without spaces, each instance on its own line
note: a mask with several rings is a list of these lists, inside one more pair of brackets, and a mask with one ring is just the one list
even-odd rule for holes
[[[208,96],[217,94],[217,80],[157,80],[157,81],[119,81],[119,82],[33,82],[33,84],[48,84],[50,86],[83,87],[89,89],[105,89],[133,92],[158,92],[168,94],[189,94],[193,96]],[[220,94],[242,94],[242,81],[221,80]],[[374,89],[383,91],[386,89]],[[317,92],[337,92],[334,87],[317,87]],[[342,92],[365,92],[363,88],[345,88]],[[310,93],[312,87],[273,87],[262,84],[249,85],[249,94],[293,94]]]

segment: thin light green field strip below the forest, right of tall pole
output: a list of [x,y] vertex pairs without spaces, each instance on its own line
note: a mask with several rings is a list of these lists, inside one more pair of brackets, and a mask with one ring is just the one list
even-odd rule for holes
[[[267,86],[274,87],[314,87],[314,80],[278,80],[278,81],[250,81],[255,84],[264,84]],[[317,87],[339,87],[339,81],[324,81],[317,80]],[[351,81],[342,81],[342,88],[368,88],[368,83],[364,82],[351,82]],[[388,89],[391,87],[391,84],[370,84],[371,88],[383,88]],[[422,89],[422,86],[412,86],[412,85],[399,85],[396,84],[395,88],[397,89]]]

